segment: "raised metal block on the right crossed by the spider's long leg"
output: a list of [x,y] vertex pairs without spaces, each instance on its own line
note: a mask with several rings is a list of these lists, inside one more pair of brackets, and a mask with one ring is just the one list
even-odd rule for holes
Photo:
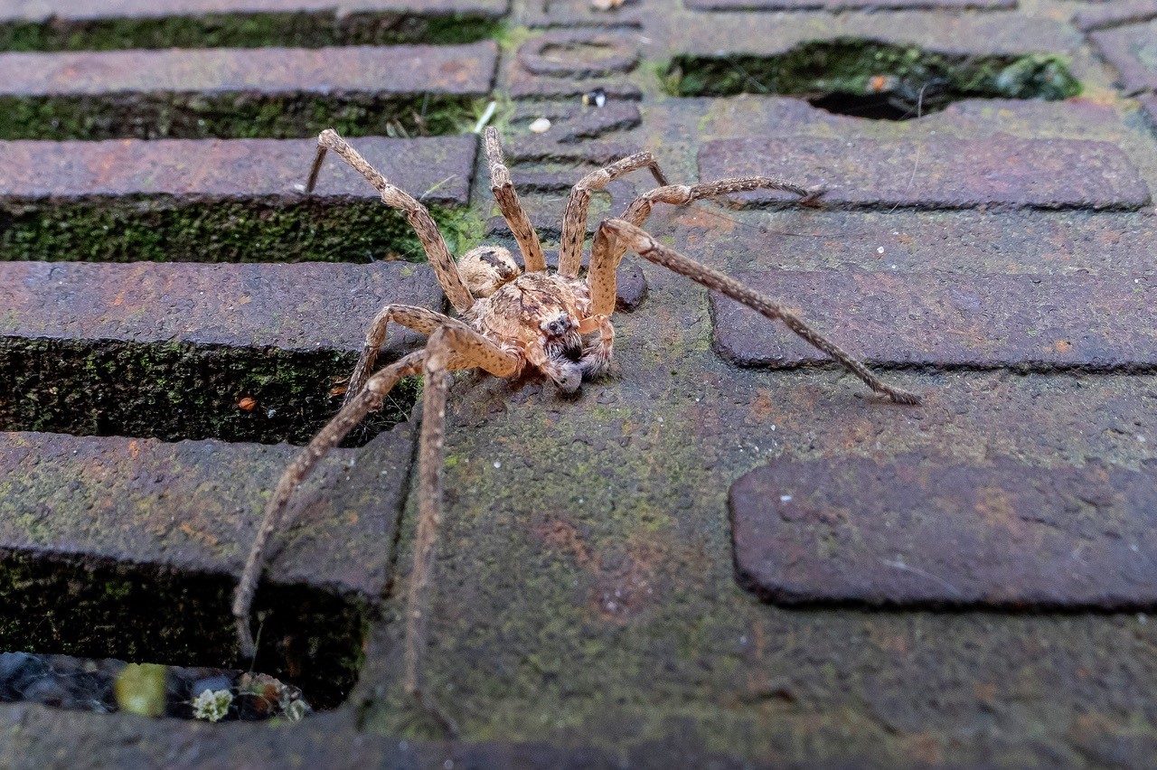
[[[1157,367],[1157,282],[1129,275],[961,275],[856,269],[746,273],[854,355],[894,367]],[[712,298],[716,348],[745,367],[828,358],[781,324]]]

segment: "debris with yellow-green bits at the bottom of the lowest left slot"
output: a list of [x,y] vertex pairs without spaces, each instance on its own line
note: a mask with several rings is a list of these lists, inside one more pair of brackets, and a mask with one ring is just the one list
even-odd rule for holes
[[301,690],[266,674],[3,652],[0,703],[16,702],[206,721],[297,721],[310,712]]

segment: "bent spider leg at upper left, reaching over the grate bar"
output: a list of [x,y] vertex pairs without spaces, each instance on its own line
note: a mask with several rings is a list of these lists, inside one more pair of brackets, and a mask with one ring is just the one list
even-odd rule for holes
[[382,195],[382,201],[386,206],[400,209],[406,215],[406,221],[414,229],[418,239],[422,242],[426,250],[426,258],[430,267],[437,275],[437,282],[442,284],[442,290],[450,299],[450,304],[462,313],[470,310],[474,304],[474,297],[466,288],[466,282],[458,274],[458,266],[454,264],[450,249],[445,245],[445,239],[439,232],[437,225],[426,207],[413,199],[408,193],[386,182],[373,165],[363,158],[358,150],[349,146],[346,140],[338,135],[332,128],[326,128],[317,138],[317,155],[314,156],[314,165],[309,170],[309,182],[305,184],[305,193],[314,192],[317,186],[317,176],[322,171],[322,161],[325,160],[326,150],[333,150],[342,161],[348,163],[355,171],[366,177],[366,180],[374,185],[374,188]]

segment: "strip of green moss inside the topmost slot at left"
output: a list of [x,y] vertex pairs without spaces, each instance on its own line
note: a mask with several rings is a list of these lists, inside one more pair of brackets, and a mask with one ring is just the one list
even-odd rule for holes
[[341,18],[315,13],[233,13],[200,16],[94,18],[0,25],[5,51],[112,51],[283,45],[459,44],[501,32],[501,21],[479,14],[422,16],[360,13]]

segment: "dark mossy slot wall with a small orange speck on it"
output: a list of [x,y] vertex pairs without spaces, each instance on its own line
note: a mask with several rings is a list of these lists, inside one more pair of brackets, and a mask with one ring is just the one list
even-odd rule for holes
[[[0,338],[0,430],[304,444],[336,414],[333,351]],[[406,379],[349,444],[407,419]],[[243,398],[252,409],[238,406]]]

